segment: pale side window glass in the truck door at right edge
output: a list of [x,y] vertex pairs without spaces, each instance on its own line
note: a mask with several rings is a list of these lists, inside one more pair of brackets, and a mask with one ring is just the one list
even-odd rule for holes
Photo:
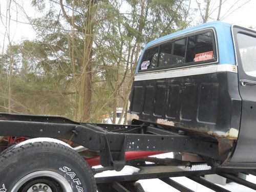
[[242,33],[237,38],[244,72],[256,77],[256,38]]

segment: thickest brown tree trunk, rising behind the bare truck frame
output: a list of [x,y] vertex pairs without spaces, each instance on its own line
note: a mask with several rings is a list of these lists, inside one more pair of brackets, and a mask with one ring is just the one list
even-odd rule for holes
[[[80,35],[83,35],[83,55],[77,53],[77,60],[80,61],[80,71],[74,68],[74,75],[80,73],[80,77],[75,78],[75,84],[78,90],[78,110],[77,110],[77,120],[81,122],[89,121],[91,118],[92,109],[92,55],[93,55],[93,6],[94,0],[88,0],[87,11],[83,13],[83,24],[78,26],[75,24],[75,15],[70,17],[65,11],[65,6],[63,5],[63,0],[59,0],[60,8],[63,16],[66,18],[67,22],[72,25]],[[80,0],[83,1],[83,0]],[[76,47],[75,42],[72,40],[72,47]],[[72,48],[72,58],[73,51]],[[75,59],[72,59],[74,64]],[[77,107],[77,106],[76,106]]]

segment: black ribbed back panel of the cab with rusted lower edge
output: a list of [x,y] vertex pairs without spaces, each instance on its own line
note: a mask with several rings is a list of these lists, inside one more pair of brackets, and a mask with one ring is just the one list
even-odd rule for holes
[[130,113],[140,121],[216,136],[240,126],[237,73],[134,81],[130,101]]

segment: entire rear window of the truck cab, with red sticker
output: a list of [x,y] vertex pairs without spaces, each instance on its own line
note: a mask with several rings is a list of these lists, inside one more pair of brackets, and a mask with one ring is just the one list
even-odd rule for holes
[[139,71],[175,68],[217,61],[214,32],[209,29],[145,50]]

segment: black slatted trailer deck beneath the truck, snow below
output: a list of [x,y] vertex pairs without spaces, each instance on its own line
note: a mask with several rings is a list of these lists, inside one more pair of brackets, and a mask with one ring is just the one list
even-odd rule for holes
[[129,188],[131,187],[131,185],[135,187],[133,188],[133,191],[144,191],[141,185],[135,185],[134,183],[138,180],[143,179],[159,179],[179,191],[193,192],[193,190],[172,179],[172,177],[187,177],[188,179],[191,179],[214,191],[230,192],[230,190],[227,190],[217,184],[211,183],[202,177],[204,175],[212,174],[217,174],[219,176],[229,179],[232,182],[256,190],[256,184],[238,177],[239,173],[256,175],[256,172],[250,169],[219,169],[211,168],[210,166],[207,166],[207,164],[196,164],[193,165],[191,168],[184,166],[150,164],[145,166],[138,166],[137,168],[140,169],[139,172],[134,173],[133,175],[95,177],[98,191],[127,192],[131,191],[131,188]]

